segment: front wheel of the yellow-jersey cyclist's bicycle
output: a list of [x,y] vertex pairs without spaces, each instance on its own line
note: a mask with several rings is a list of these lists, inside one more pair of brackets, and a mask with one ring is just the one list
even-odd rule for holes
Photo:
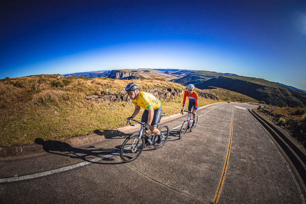
[[144,150],[145,138],[139,138],[139,133],[135,133],[125,139],[120,149],[120,157],[124,162],[135,160]]

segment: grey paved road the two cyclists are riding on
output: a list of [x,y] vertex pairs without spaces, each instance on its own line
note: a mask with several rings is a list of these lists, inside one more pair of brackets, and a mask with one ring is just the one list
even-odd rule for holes
[[251,106],[204,108],[181,140],[185,117],[167,122],[174,129],[165,146],[128,164],[119,156],[123,137],[69,151],[45,142],[48,153],[0,161],[0,203],[305,204],[291,166],[245,109]]

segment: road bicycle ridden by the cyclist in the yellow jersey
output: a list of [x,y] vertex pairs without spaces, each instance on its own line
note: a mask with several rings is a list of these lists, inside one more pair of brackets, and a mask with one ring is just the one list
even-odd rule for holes
[[[166,113],[161,113],[160,116],[164,116]],[[158,130],[164,135],[164,139],[162,139],[161,143],[158,144],[158,135],[147,132],[145,130],[145,122],[141,122],[138,120],[131,119],[131,121],[135,121],[141,124],[140,130],[138,133],[134,133],[123,142],[120,149],[120,157],[124,162],[130,162],[135,160],[144,150],[146,143],[149,145],[153,145],[155,149],[161,148],[167,141],[169,135],[169,127],[167,125],[162,125],[158,127]],[[134,126],[134,124],[131,124]]]

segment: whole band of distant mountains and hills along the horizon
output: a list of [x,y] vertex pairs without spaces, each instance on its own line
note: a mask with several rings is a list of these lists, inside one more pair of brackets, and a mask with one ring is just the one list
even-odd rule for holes
[[[258,101],[264,101],[267,104],[273,104],[280,107],[306,106],[306,92],[303,92],[303,90],[255,77],[239,76],[232,73],[188,69],[121,69],[120,71],[138,74],[138,76],[143,76],[144,78],[163,78],[167,81],[183,84],[185,86],[192,83],[199,89],[205,89],[208,88],[208,86],[219,87],[244,94]],[[100,75],[109,77],[111,76],[111,72],[118,72],[118,70],[106,70],[104,73],[102,73],[102,71],[96,71],[92,76]],[[89,75],[90,72],[85,72],[83,74],[83,76]],[[124,77],[117,78],[125,79]],[[126,79],[140,78],[130,77]],[[234,82],[239,86],[233,84]]]

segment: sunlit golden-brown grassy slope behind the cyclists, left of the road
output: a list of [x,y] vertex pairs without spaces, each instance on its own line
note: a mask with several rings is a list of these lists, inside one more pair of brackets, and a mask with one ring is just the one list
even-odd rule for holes
[[[95,130],[124,126],[133,113],[128,102],[87,100],[89,95],[124,93],[132,80],[37,75],[0,80],[0,147],[34,143],[35,138],[56,140]],[[140,89],[181,84],[160,80],[133,80]],[[162,102],[163,112],[178,113],[182,96]],[[200,105],[215,102],[201,98]],[[139,113],[137,119],[140,119]]]

